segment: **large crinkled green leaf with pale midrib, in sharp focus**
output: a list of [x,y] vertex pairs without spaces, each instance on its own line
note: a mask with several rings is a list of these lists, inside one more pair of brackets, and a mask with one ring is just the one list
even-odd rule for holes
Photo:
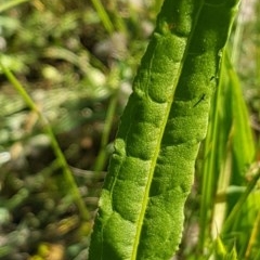
[[121,117],[91,260],[166,260],[178,249],[237,2],[164,2]]

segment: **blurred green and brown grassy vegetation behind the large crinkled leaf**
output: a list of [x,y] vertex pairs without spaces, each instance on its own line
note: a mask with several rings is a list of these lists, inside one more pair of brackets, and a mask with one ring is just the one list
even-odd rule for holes
[[[87,259],[112,142],[159,2],[0,1],[0,259]],[[227,224],[217,258],[236,244],[239,259],[260,259],[259,14],[259,1],[244,0],[220,82],[234,88],[216,91],[217,133],[209,128],[198,158],[180,259],[206,259],[220,219]],[[234,115],[243,116],[232,125]],[[212,140],[223,144],[213,153]],[[236,226],[218,202],[227,212],[238,205]]]

